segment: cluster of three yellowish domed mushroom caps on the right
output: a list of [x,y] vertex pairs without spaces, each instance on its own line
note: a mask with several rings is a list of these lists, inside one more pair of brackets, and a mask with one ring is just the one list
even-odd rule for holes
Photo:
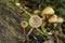
[[49,17],[49,23],[63,23],[63,18],[62,17],[58,17],[54,10],[51,8],[51,6],[47,6],[43,11],[42,11],[42,16],[47,14],[48,16],[49,15],[52,15]]

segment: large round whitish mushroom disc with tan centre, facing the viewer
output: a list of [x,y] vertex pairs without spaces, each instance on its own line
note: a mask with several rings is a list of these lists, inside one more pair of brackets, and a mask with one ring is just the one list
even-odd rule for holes
[[38,28],[40,27],[42,24],[42,19],[38,16],[38,15],[32,15],[30,18],[29,18],[29,25],[34,28]]

